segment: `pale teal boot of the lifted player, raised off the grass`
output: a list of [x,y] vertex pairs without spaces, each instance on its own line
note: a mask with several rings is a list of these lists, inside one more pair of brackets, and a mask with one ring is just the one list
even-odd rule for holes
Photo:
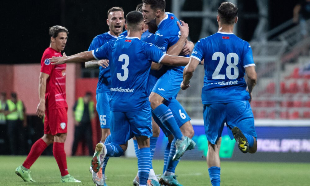
[[183,139],[177,139],[175,141],[175,155],[173,156],[172,160],[176,161],[180,159],[185,153],[185,151],[191,150],[195,146],[196,143],[187,136],[185,136]]

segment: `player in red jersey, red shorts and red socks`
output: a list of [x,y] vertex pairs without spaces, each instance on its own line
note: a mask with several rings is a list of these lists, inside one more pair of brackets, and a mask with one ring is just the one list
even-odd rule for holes
[[[68,39],[68,29],[55,25],[49,30],[50,47],[41,59],[41,73],[39,78],[39,99],[37,115],[44,118],[44,135],[38,139],[24,161],[16,168],[15,173],[24,181],[34,182],[30,176],[29,168],[42,154],[48,145],[53,144],[53,154],[61,173],[61,182],[81,182],[69,175],[67,168],[64,142],[67,137],[67,110],[66,102],[66,64],[51,65],[49,58],[62,57]],[[65,55],[65,54],[64,54]]]

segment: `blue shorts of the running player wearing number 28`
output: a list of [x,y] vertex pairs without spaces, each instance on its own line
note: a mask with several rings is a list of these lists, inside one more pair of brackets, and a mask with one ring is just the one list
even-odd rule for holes
[[203,122],[208,141],[215,144],[221,137],[224,123],[228,126],[228,135],[232,135],[233,127],[237,126],[243,133],[254,136],[257,134],[254,127],[254,117],[249,101],[232,103],[205,104],[203,106]]

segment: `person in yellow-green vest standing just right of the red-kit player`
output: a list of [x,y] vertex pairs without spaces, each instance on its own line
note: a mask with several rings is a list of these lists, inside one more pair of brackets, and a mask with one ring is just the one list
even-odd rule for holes
[[83,139],[86,140],[89,155],[92,156],[93,142],[91,131],[91,119],[94,117],[94,102],[92,101],[92,93],[86,92],[84,97],[79,97],[73,107],[74,112],[74,141],[72,146],[72,155],[74,156],[78,147],[78,143]]

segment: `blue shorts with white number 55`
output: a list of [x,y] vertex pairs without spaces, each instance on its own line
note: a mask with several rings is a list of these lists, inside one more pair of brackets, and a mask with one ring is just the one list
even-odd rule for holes
[[100,127],[102,129],[110,128],[110,92],[96,94],[96,109],[99,115]]

